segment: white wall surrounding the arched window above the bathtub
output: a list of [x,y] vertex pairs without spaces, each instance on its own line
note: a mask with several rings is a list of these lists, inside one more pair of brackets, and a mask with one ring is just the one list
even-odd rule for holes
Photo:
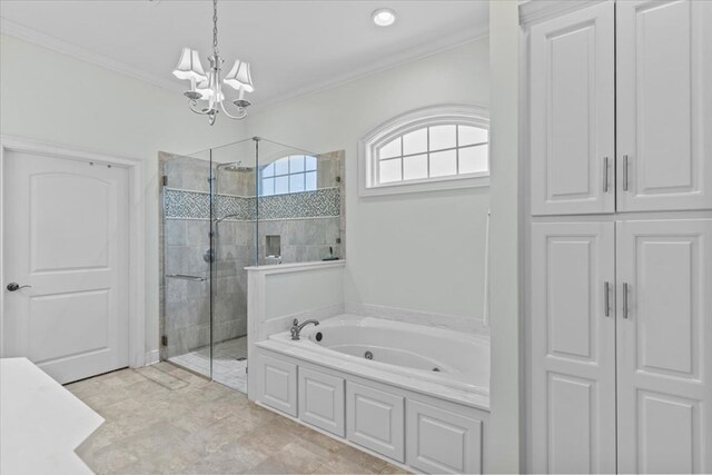
[[488,189],[360,199],[357,144],[399,113],[490,102],[488,41],[397,66],[250,116],[250,135],[346,150],[347,303],[482,316]]

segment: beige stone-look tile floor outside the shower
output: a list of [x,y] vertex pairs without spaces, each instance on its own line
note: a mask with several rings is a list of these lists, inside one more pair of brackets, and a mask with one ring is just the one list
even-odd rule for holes
[[106,419],[77,449],[98,474],[404,473],[169,363],[67,388]]

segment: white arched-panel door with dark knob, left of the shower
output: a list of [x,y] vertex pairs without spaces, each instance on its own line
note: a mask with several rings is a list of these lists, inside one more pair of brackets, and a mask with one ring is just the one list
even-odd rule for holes
[[20,152],[4,162],[6,356],[60,383],[128,366],[127,170]]

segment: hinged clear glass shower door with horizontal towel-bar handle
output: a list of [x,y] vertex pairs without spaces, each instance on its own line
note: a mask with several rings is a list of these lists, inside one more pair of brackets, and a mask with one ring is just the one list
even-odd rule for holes
[[210,152],[161,154],[161,359],[210,377]]

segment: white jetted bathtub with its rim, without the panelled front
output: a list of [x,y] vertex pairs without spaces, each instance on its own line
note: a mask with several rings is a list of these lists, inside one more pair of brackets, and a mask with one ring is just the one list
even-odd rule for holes
[[[320,339],[319,339],[320,338]],[[360,369],[378,378],[388,375],[406,378],[412,388],[441,393],[435,385],[458,392],[490,395],[490,340],[452,330],[411,325],[382,318],[340,315],[309,325],[301,338],[294,342],[288,331],[269,338],[295,349],[339,359],[342,368]],[[369,352],[373,359],[366,358]],[[481,398],[479,398],[481,400]]]

